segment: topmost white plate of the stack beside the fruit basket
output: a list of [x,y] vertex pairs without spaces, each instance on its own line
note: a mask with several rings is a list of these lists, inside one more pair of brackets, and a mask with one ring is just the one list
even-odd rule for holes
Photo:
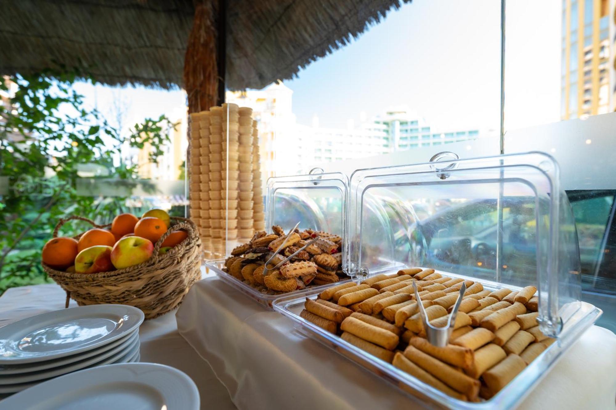
[[0,365],[36,363],[109,344],[144,321],[127,305],[89,305],[47,312],[0,328]]

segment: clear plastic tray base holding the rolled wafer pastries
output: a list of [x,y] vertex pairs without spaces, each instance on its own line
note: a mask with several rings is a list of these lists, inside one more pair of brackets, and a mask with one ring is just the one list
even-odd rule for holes
[[[389,273],[394,272],[392,271]],[[470,276],[456,275],[440,270],[439,273],[455,278],[474,280],[474,278]],[[495,291],[502,287],[498,283],[485,281],[484,279],[481,280],[481,283],[484,285],[484,289],[490,289],[491,291]],[[513,290],[521,289],[521,287],[518,286],[508,287]],[[563,353],[573,345],[575,340],[577,340],[586,329],[590,328],[590,326],[598,320],[602,313],[600,309],[594,307],[590,303],[582,302],[577,312],[573,313],[570,320],[564,324],[556,342],[551,344],[541,355],[533,360],[524,371],[518,374],[515,379],[511,380],[509,384],[490,398],[490,400],[472,403],[448,396],[440,392],[440,390],[421,382],[410,374],[395,368],[391,363],[380,360],[360,348],[347,343],[339,336],[333,335],[315,324],[304,320],[304,318],[301,318],[299,313],[304,308],[306,297],[316,299],[319,292],[320,291],[315,288],[311,289],[310,292],[304,292],[301,297],[299,297],[299,295],[279,295],[274,301],[274,310],[277,310],[277,312],[293,320],[296,329],[302,333],[312,339],[318,340],[318,342],[321,342],[354,363],[359,364],[359,366],[362,366],[362,368],[367,371],[381,377],[386,382],[402,390],[402,392],[406,393],[411,398],[419,398],[432,407],[448,409],[487,410],[513,408],[516,404],[524,400],[533,388],[537,387],[538,382],[545,377],[551,368],[553,368],[554,364],[562,357]]]

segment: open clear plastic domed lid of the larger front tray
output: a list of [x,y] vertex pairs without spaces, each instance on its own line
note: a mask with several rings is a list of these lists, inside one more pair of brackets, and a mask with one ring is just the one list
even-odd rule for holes
[[495,287],[533,285],[541,328],[554,336],[580,307],[573,213],[549,155],[358,170],[347,209],[351,276],[430,267]]

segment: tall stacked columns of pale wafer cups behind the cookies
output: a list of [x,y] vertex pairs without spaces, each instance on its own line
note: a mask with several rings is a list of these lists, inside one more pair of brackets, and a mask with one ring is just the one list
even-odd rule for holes
[[251,108],[223,104],[190,115],[190,215],[206,257],[264,227],[258,132]]

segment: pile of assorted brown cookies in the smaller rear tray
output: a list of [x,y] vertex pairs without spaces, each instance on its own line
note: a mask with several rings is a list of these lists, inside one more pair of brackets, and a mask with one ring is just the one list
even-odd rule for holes
[[[338,282],[346,275],[342,273],[342,238],[322,231],[295,230],[286,243],[286,234],[274,225],[273,233],[257,231],[245,244],[235,247],[225,260],[224,270],[236,279],[267,294],[291,292],[304,289],[310,284],[322,285]],[[275,265],[298,251],[307,241],[317,241],[291,258],[277,270],[264,275],[264,265],[279,250],[272,260]]]

